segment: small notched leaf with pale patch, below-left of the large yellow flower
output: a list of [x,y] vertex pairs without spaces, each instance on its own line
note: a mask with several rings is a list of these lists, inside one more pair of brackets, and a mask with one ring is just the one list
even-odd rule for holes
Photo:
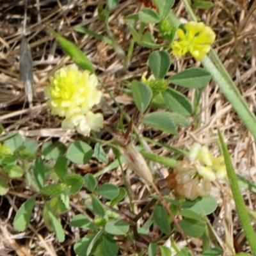
[[57,159],[59,156],[63,156],[67,150],[67,147],[60,141],[56,141],[53,145],[50,142],[44,143],[42,147],[42,154],[45,159]]

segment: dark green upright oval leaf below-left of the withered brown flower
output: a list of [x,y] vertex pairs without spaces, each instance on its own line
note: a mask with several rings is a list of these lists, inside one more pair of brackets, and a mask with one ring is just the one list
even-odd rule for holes
[[156,205],[153,212],[153,219],[157,227],[160,228],[161,232],[166,235],[171,234],[170,221],[163,205]]

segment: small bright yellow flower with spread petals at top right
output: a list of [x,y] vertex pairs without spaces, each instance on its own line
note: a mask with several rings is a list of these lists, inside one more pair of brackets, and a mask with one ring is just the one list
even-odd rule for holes
[[190,52],[193,57],[200,61],[211,49],[214,43],[215,33],[203,22],[190,21],[184,25],[185,31],[177,30],[179,40],[175,40],[172,44],[173,55],[183,56]]

